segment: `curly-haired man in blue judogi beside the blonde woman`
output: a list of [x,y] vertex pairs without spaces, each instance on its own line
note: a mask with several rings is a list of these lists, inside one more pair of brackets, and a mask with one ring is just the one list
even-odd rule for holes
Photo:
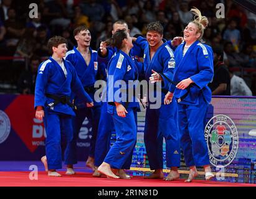
[[[148,155],[149,166],[154,173],[146,178],[164,178],[163,174],[163,137],[166,142],[166,165],[171,167],[165,180],[179,178],[180,146],[177,121],[176,102],[164,104],[164,95],[169,89],[169,80],[173,78],[175,57],[168,42],[163,40],[163,26],[159,22],[151,22],[147,27],[146,39],[138,37],[136,43],[145,49],[144,71],[147,81],[161,80],[161,86],[155,85],[154,90],[149,89],[148,95],[159,96],[158,107],[148,98],[146,108],[146,121],[144,141]],[[169,80],[168,80],[169,79]],[[149,87],[150,88],[150,87]]]

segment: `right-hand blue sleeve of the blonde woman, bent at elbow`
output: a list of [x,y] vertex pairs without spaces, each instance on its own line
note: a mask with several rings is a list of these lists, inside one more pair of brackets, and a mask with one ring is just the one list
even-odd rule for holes
[[192,75],[190,78],[200,89],[202,89],[212,80],[214,76],[214,68],[206,47],[202,44],[200,44],[200,46],[196,57],[199,73]]

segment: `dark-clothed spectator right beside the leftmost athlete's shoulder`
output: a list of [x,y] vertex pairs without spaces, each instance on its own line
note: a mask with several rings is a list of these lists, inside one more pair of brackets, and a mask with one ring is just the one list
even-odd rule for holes
[[36,85],[37,67],[39,66],[40,58],[33,55],[29,62],[29,70],[24,70],[19,76],[17,89],[23,95],[33,94]]

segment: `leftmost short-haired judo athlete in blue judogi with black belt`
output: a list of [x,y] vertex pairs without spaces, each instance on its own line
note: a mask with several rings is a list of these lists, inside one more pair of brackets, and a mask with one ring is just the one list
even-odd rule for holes
[[67,142],[72,141],[72,116],[75,116],[70,96],[73,93],[81,100],[93,106],[92,98],[85,92],[72,63],[64,60],[67,52],[67,40],[52,37],[48,47],[53,54],[39,65],[35,104],[36,118],[44,119],[46,132],[46,157],[44,161],[49,176],[60,176],[56,169],[62,168],[60,136],[65,132]]

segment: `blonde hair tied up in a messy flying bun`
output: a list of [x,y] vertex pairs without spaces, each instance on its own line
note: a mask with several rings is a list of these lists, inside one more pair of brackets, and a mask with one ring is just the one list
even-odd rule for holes
[[206,16],[202,16],[201,11],[199,11],[199,9],[196,7],[192,8],[190,11],[192,14],[194,14],[194,21],[191,22],[197,26],[197,32],[201,34],[199,40],[201,40],[202,36],[204,35],[204,29],[206,29],[209,21]]

